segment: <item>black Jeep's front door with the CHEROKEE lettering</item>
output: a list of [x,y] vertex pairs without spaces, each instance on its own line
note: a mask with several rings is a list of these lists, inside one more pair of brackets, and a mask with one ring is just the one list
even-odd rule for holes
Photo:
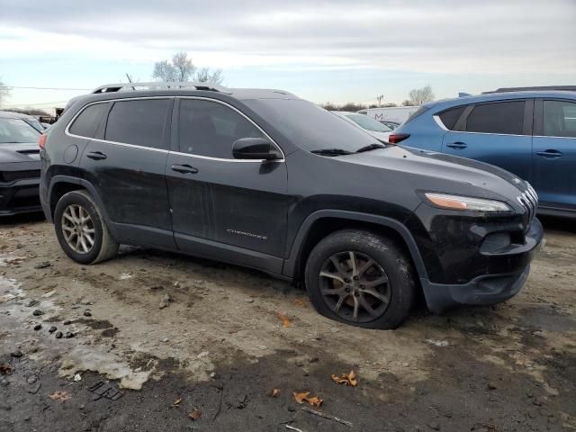
[[237,139],[272,139],[228,103],[199,97],[177,101],[173,130],[166,179],[177,246],[280,273],[288,207],[284,158],[232,155]]

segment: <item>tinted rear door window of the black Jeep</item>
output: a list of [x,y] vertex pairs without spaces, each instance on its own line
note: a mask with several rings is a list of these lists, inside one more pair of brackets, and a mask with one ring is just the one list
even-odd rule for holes
[[166,148],[163,136],[168,103],[167,99],[114,103],[108,114],[104,139],[137,146]]

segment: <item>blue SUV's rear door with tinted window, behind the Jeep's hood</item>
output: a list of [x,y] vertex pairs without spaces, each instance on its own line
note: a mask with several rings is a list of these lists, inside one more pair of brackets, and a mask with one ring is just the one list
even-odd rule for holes
[[532,99],[469,105],[446,132],[442,151],[500,166],[530,181],[533,107]]

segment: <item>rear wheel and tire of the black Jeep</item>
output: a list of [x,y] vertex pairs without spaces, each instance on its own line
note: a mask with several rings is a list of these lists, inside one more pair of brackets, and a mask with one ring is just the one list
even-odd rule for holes
[[[79,215],[85,220],[83,224],[76,223]],[[68,192],[58,200],[54,228],[60,247],[77,263],[96,264],[114,257],[118,251],[118,243],[112,238],[101,211],[85,190]],[[84,243],[77,241],[77,232],[81,232]]]

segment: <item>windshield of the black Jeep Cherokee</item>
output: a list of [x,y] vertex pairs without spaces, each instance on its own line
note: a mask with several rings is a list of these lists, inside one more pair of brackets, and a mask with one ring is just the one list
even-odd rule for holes
[[309,151],[338,148],[356,152],[378,142],[365,131],[302,99],[252,99],[245,102],[286,138]]

